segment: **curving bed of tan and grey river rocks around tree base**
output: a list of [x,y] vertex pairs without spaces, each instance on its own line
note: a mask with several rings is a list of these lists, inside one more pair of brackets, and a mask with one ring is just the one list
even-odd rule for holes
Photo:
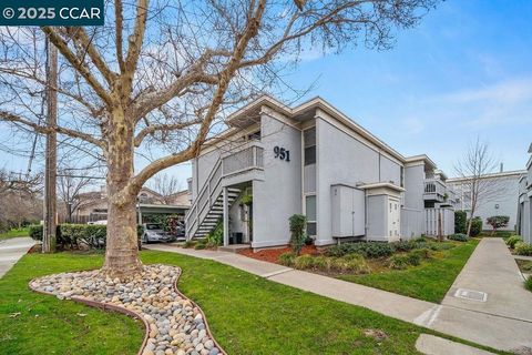
[[146,325],[143,355],[225,354],[211,335],[203,312],[176,288],[181,268],[145,265],[129,282],[99,270],[48,275],[30,282],[33,291],[104,310],[135,315]]

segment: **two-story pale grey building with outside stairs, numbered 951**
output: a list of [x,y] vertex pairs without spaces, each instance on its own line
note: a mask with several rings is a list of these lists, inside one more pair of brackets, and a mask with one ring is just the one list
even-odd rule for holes
[[225,245],[286,245],[294,214],[318,246],[453,232],[452,210],[434,209],[447,200],[436,164],[402,156],[320,98],[289,108],[263,97],[226,123],[193,160],[188,239],[223,223]]

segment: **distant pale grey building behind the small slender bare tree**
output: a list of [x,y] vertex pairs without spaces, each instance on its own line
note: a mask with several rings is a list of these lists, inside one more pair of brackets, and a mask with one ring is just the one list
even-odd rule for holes
[[[519,181],[526,173],[524,170],[505,171],[483,175],[482,183],[484,190],[489,191],[484,194],[477,205],[474,216],[482,219],[482,230],[492,230],[487,223],[487,219],[494,215],[508,215],[510,222],[504,231],[514,231],[518,223],[518,206],[515,201],[519,195]],[[457,194],[456,210],[468,212],[471,216],[471,179],[470,178],[452,178],[447,180],[447,184]]]

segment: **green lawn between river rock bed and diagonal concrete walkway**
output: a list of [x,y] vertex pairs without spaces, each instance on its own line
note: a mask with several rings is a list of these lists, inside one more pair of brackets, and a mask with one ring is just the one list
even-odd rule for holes
[[[217,262],[153,251],[142,258],[183,268],[180,290],[202,307],[228,354],[417,354],[421,333],[479,347]],[[388,338],[378,342],[365,329],[383,331]]]

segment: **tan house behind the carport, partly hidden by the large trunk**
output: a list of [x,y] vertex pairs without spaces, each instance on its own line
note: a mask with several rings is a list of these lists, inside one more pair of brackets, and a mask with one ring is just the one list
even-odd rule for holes
[[[91,191],[79,195],[80,204],[73,211],[73,221],[75,223],[86,223],[103,221],[108,219],[108,194],[105,185],[100,191]],[[172,196],[165,197],[157,192],[142,187],[137,196],[140,215],[178,213],[184,214],[191,206],[188,191],[181,191]],[[170,204],[167,202],[171,202]]]

